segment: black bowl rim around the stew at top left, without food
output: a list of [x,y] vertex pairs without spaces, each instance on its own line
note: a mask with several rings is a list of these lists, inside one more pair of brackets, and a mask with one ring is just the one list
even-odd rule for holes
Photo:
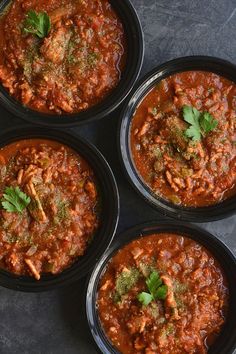
[[[0,13],[10,0],[3,0]],[[135,84],[143,63],[144,39],[138,15],[129,0],[110,0],[110,3],[120,17],[127,38],[127,60],[118,86],[111,94],[88,110],[74,114],[44,114],[31,110],[15,100],[0,84],[0,102],[16,116],[33,124],[50,127],[70,127],[98,120],[111,113],[129,94]]]

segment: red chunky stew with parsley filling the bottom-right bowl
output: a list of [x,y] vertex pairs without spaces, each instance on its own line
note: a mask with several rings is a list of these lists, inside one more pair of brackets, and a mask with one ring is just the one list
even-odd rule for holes
[[224,324],[228,289],[202,245],[153,234],[111,259],[97,305],[107,337],[122,354],[204,354]]

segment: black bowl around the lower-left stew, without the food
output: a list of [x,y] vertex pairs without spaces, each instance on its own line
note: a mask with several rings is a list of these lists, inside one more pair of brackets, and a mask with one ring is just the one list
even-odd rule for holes
[[0,147],[27,139],[43,138],[59,141],[78,152],[91,166],[98,181],[101,194],[101,225],[94,235],[84,256],[58,275],[45,274],[40,280],[29,276],[16,276],[0,270],[0,285],[21,291],[39,292],[68,285],[85,276],[109,246],[116,231],[119,219],[119,194],[114,175],[102,154],[85,140],[57,130],[45,130],[25,126],[8,130],[0,135]]

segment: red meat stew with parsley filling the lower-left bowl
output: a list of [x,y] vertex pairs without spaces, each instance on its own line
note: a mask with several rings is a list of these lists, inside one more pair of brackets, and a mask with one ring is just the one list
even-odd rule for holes
[[40,279],[82,256],[99,225],[95,176],[69,147],[29,139],[0,149],[0,266]]

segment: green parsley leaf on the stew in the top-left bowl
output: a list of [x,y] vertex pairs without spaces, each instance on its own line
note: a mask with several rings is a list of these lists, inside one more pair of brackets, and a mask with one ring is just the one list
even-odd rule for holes
[[35,12],[30,10],[24,22],[24,32],[32,33],[39,38],[46,37],[51,29],[50,17],[46,12]]

